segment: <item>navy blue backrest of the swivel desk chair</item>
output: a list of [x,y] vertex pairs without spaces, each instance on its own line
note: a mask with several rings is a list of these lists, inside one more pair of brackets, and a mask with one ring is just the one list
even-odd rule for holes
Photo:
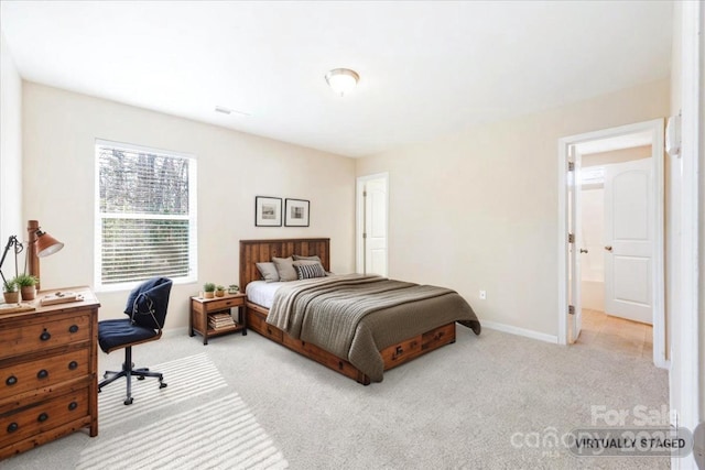
[[124,307],[132,324],[161,330],[166,319],[172,284],[167,277],[152,277],[134,287]]

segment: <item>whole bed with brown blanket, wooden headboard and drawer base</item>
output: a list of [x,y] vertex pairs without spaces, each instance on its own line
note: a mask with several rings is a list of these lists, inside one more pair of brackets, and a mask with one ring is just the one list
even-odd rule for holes
[[[381,382],[383,371],[455,342],[456,321],[471,328],[476,335],[480,334],[480,323],[467,302],[457,293],[441,287],[416,286],[422,287],[422,292],[416,292],[416,287],[412,287],[415,284],[355,274],[286,283],[262,281],[257,263],[293,255],[301,259],[317,256],[323,269],[328,272],[330,240],[327,238],[240,240],[240,286],[248,293],[245,309],[248,328],[364,385]],[[388,281],[390,284],[387,284]],[[264,294],[259,287],[257,291],[252,289],[257,284],[261,284],[259,287],[264,287]],[[324,297],[323,295],[318,297],[318,293],[323,291],[334,296],[345,297],[347,295],[343,295],[344,292],[347,293],[345,289],[351,289],[352,285],[357,288],[358,284],[364,285],[368,292],[383,291],[388,293],[383,294],[388,297],[404,293],[403,295],[412,295],[416,298],[410,302],[406,297],[399,304],[390,299],[383,308],[375,307],[371,313],[360,313],[360,317],[355,320],[356,324],[347,325],[347,329],[352,330],[352,337],[348,339],[348,343],[351,345],[349,350],[345,349],[346,345],[329,342],[333,339],[327,339],[336,337],[337,330],[332,334],[332,329],[325,329],[322,337],[316,336],[312,328],[304,325],[306,321],[312,323],[313,313],[283,308],[290,307],[290,303],[302,305],[304,298],[307,298],[306,303],[321,302]],[[281,291],[280,287],[282,287]],[[336,304],[339,298],[326,299],[328,304]],[[323,314],[318,313],[318,315]],[[292,318],[303,318],[304,321],[303,324],[292,323]],[[334,328],[341,328],[337,326],[337,320],[326,320],[325,317],[321,317],[317,321],[316,325],[328,321],[328,326],[333,321],[336,324]]]

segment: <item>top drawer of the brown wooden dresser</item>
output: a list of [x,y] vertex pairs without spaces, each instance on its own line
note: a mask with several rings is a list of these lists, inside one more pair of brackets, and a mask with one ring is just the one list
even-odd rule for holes
[[0,359],[90,339],[90,315],[73,315],[0,330]]

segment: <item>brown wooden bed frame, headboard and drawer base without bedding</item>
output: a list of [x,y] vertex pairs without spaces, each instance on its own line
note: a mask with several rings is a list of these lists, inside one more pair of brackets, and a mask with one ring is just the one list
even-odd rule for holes
[[[280,240],[240,240],[240,288],[245,292],[248,283],[261,280],[256,263],[270,262],[272,256],[288,258],[292,254],[303,256],[318,255],[323,267],[330,271],[330,239],[280,239]],[[269,310],[260,305],[246,303],[247,326],[272,341],[296,351],[316,362],[369,385],[370,378],[359,371],[346,359],[339,358],[315,345],[294,339],[279,328],[267,323]],[[434,328],[413,338],[408,338],[380,351],[384,370],[409,362],[419,356],[455,342],[455,321]]]

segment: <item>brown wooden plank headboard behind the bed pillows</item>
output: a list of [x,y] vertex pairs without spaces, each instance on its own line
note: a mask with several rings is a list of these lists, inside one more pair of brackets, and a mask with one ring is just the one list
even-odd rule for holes
[[254,263],[270,262],[272,256],[289,258],[292,254],[321,258],[323,267],[330,271],[329,238],[291,238],[279,240],[240,240],[240,289],[262,275]]

